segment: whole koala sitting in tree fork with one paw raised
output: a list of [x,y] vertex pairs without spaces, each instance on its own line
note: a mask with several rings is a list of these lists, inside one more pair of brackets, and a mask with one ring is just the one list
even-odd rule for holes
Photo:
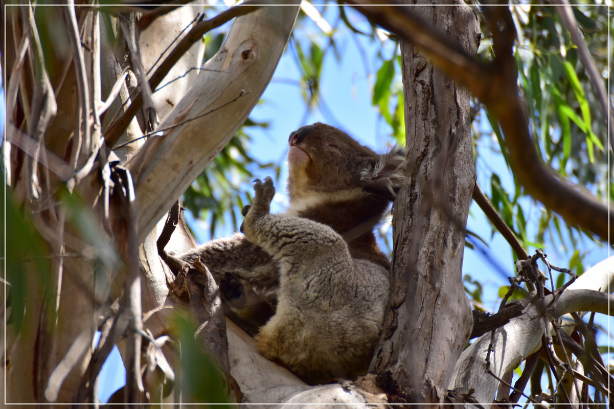
[[259,321],[258,351],[311,384],[367,372],[389,298],[390,260],[373,228],[405,181],[405,156],[379,155],[324,123],[290,133],[290,206],[271,214],[270,178],[255,181],[244,235],[200,257],[237,311]]

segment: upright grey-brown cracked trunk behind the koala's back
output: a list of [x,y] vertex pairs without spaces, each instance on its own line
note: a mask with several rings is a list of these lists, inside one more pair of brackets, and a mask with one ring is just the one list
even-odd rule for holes
[[[469,7],[411,10],[476,52]],[[392,372],[417,402],[439,402],[472,328],[461,271],[476,178],[469,94],[410,44],[401,52],[408,185],[394,204],[394,290],[371,369]]]

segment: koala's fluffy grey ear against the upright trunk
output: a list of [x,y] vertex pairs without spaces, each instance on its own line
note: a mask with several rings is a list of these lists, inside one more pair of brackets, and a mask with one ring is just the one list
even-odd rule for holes
[[375,162],[362,172],[362,189],[394,200],[398,189],[405,184],[405,165],[405,149],[402,146],[392,147],[385,154],[378,155]]

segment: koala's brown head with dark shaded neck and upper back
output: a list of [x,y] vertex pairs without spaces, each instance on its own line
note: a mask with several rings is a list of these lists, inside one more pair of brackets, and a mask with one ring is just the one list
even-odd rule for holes
[[324,123],[298,128],[289,144],[288,212],[332,227],[352,257],[389,268],[373,228],[405,182],[403,149],[379,155]]

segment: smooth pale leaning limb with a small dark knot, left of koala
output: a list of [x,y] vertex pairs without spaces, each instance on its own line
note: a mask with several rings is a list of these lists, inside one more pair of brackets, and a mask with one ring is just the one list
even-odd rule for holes
[[128,160],[136,185],[139,240],[243,125],[273,76],[298,3],[263,7],[237,18],[222,48],[205,64],[206,71],[157,130],[174,128],[150,138]]

